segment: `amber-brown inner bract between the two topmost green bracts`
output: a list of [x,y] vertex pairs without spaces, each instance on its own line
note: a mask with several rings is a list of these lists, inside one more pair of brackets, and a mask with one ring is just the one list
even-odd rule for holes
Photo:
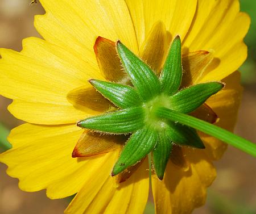
[[139,49],[139,56],[155,73],[159,73],[166,47],[166,28],[162,22],[157,22]]

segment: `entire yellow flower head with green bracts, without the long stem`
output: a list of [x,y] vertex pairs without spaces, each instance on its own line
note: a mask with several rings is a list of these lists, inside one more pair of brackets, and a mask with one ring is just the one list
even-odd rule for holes
[[24,191],[76,194],[71,214],[143,213],[149,181],[157,214],[204,204],[226,144],[191,125],[233,131],[250,22],[238,1],[40,3],[44,39],[0,49],[0,94],[27,122],[0,155],[7,173]]

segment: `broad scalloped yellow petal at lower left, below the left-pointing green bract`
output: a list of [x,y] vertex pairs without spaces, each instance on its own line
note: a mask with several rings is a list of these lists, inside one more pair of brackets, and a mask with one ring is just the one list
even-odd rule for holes
[[9,166],[7,173],[19,179],[24,191],[46,188],[52,199],[73,195],[84,183],[93,183],[102,169],[109,167],[110,175],[114,165],[111,153],[86,159],[71,157],[82,132],[76,124],[20,125],[9,136],[13,149],[0,154],[0,160]]

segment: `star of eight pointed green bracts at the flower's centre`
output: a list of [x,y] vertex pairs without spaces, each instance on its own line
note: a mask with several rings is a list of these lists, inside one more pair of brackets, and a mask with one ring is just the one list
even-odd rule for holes
[[158,178],[163,179],[174,144],[200,149],[205,147],[195,129],[161,115],[159,109],[187,114],[224,85],[220,82],[201,83],[178,91],[182,77],[179,36],[170,47],[159,78],[120,41],[117,42],[117,52],[134,87],[90,80],[95,89],[119,109],[81,120],[77,125],[99,132],[131,133],[112,175],[135,165],[152,151],[154,169]]

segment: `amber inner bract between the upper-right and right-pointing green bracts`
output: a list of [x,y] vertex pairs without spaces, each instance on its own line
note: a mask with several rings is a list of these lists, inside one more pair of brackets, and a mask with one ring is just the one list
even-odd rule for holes
[[207,66],[212,62],[213,54],[208,51],[196,51],[182,56],[183,77],[181,86],[188,87],[199,83]]

